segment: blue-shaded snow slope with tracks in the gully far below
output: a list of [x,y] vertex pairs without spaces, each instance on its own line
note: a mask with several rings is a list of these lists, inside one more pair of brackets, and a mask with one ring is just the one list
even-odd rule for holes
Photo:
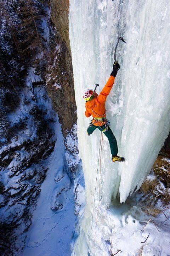
[[40,196],[37,199],[37,207],[33,213],[32,225],[28,230],[22,256],[69,256],[71,254],[69,244],[75,222],[74,186],[66,172],[65,149],[58,120],[56,136],[55,149],[43,163],[49,170],[41,185]]

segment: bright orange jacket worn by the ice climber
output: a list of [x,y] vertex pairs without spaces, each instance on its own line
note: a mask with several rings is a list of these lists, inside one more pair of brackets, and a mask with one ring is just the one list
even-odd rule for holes
[[[86,102],[86,117],[106,117],[105,102],[113,87],[114,79],[114,76],[110,76],[101,93],[97,97]],[[94,125],[98,126],[97,123]]]

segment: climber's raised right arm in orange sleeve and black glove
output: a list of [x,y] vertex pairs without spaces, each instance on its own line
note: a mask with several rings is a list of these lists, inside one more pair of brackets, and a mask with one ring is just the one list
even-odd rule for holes
[[111,76],[109,77],[109,79],[107,80],[106,85],[104,86],[103,90],[101,91],[101,93],[97,96],[97,99],[99,102],[104,103],[106,101],[107,96],[109,95],[113,84],[114,84],[114,79],[115,76],[117,75],[118,70],[120,69],[119,63],[118,62],[114,62],[113,64],[113,71],[111,73]]

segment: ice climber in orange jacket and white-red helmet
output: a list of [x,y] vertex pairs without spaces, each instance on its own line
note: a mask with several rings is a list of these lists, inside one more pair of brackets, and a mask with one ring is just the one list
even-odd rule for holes
[[119,70],[120,66],[118,62],[114,62],[113,64],[113,71],[111,76],[109,77],[106,85],[104,86],[101,93],[98,95],[92,89],[85,89],[83,98],[86,101],[86,112],[85,116],[90,117],[92,116],[93,119],[91,120],[90,126],[87,128],[87,135],[92,134],[94,130],[99,129],[103,132],[109,140],[111,154],[112,154],[112,161],[113,162],[122,162],[125,159],[121,156],[118,156],[118,145],[116,138],[109,126],[109,121],[106,119],[106,109],[105,109],[105,102],[106,98],[109,95],[113,84],[115,76]]

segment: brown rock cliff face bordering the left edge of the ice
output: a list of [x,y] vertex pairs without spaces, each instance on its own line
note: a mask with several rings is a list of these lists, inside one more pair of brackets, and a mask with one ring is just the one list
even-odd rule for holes
[[55,49],[51,56],[46,77],[47,92],[62,124],[66,138],[77,122],[72,58],[68,34],[69,1],[51,0],[51,18],[55,26]]

